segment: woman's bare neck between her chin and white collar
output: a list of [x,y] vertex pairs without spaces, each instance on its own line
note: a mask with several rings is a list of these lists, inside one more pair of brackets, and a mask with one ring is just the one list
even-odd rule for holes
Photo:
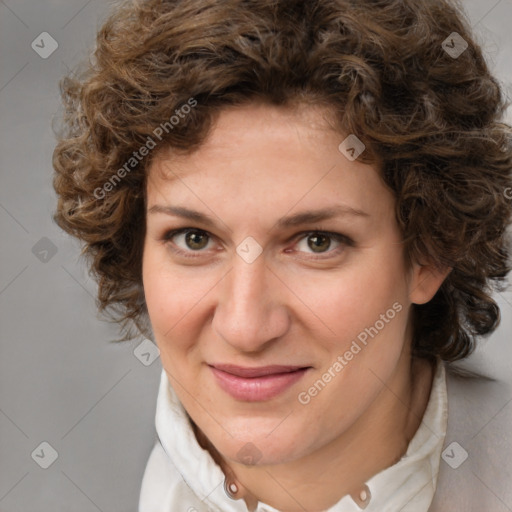
[[197,427],[196,436],[224,472],[236,479],[250,510],[258,501],[283,512],[326,510],[347,494],[356,499],[367,480],[405,454],[423,418],[432,379],[430,363],[404,352],[375,401],[350,429],[286,464],[228,463]]

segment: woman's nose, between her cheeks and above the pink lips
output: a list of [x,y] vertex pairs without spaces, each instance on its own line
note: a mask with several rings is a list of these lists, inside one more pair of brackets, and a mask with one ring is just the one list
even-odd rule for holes
[[289,328],[286,291],[263,255],[252,263],[235,257],[218,286],[214,330],[238,352],[265,350]]

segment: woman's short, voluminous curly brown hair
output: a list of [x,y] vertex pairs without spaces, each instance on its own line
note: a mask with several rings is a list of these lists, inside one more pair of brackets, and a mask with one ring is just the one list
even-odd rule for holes
[[[464,41],[460,55],[447,51]],[[166,121],[160,147],[192,152],[223,108],[254,100],[329,106],[340,133],[366,145],[360,159],[380,163],[407,261],[452,269],[429,303],[413,306],[414,354],[461,359],[497,327],[491,293],[510,269],[512,131],[457,4],[128,2],[99,30],[85,69],[60,88],[54,219],[85,242],[98,307],[119,323],[119,341],[151,337],[141,266],[146,170],[158,151],[129,170],[126,162]],[[171,126],[191,98],[196,106]]]

